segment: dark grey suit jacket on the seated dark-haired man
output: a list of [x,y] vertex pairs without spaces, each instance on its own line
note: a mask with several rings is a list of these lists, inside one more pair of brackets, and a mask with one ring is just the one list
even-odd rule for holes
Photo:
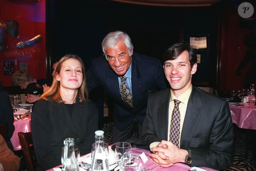
[[[167,140],[170,89],[152,93],[143,123],[143,138],[150,144]],[[225,169],[233,162],[233,125],[226,101],[195,86],[188,100],[181,132],[181,149],[191,149],[191,166]]]

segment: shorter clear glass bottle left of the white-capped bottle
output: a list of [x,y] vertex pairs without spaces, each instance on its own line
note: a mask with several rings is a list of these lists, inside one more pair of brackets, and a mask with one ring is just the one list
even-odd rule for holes
[[62,171],[79,171],[79,167],[75,161],[74,138],[66,138],[64,145]]

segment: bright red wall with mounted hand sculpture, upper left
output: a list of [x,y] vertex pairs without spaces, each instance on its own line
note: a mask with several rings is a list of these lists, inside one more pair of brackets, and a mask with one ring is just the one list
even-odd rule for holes
[[[14,72],[20,70],[20,63],[27,63],[28,73],[34,78],[46,78],[45,48],[45,0],[0,0],[0,21],[19,22],[18,39],[7,36],[8,52],[0,52],[0,81],[11,86],[11,75],[4,75],[4,61],[14,62]],[[40,34],[42,40],[31,46],[19,49],[16,44]]]

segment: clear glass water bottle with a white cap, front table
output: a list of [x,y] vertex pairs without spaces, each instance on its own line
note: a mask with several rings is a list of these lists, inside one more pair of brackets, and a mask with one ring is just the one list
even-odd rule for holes
[[95,131],[95,151],[91,162],[91,171],[109,171],[109,160],[104,149],[104,131]]

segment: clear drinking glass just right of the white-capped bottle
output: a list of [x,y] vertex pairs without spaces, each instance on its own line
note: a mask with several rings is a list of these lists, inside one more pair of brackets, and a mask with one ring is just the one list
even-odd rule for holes
[[131,162],[132,146],[128,142],[118,142],[115,144],[115,160],[117,165],[120,166],[120,162]]

